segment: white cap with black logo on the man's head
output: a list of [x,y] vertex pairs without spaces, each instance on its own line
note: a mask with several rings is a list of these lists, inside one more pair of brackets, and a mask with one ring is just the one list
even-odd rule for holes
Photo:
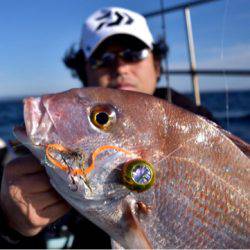
[[84,23],[80,47],[89,58],[108,37],[118,34],[131,35],[153,48],[153,36],[146,19],[131,10],[107,7],[95,11]]

